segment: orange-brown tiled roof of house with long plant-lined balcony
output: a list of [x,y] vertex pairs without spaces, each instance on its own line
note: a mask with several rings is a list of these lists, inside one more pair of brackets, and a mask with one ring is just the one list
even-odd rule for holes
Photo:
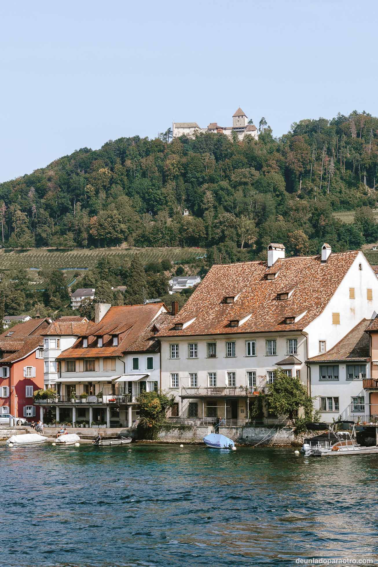
[[[151,329],[154,323],[164,328],[165,319],[172,318],[170,314],[163,317],[156,315],[164,307],[164,303],[150,303],[147,305],[122,305],[111,307],[101,319],[100,323],[91,324],[88,329],[80,335],[71,348],[64,350],[58,358],[92,358],[121,356],[125,352],[140,352],[155,348],[152,346],[156,337]],[[170,323],[170,321],[169,321]],[[112,335],[120,336],[118,346],[112,345]],[[103,336],[103,346],[97,346],[97,337]],[[82,338],[88,338],[88,346],[83,348]]]

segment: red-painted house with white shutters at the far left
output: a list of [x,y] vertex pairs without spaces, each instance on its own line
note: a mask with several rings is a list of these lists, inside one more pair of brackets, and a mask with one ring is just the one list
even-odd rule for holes
[[0,335],[0,413],[36,415],[33,392],[44,387],[43,336],[50,319],[30,319]]

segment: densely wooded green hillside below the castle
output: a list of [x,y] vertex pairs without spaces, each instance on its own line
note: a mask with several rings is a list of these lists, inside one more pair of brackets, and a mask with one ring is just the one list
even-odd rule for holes
[[[10,248],[201,246],[224,260],[335,251],[378,238],[378,119],[366,112],[301,120],[258,142],[223,134],[120,138],[0,184]],[[189,217],[182,215],[189,209]],[[356,210],[354,223],[333,211]],[[214,248],[214,246],[216,248]]]

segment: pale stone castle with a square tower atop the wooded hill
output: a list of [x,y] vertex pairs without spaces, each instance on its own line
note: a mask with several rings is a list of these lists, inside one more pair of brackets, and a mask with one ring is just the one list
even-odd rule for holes
[[207,128],[201,128],[197,122],[173,122],[173,138],[178,138],[185,134],[192,137],[194,132],[211,132],[214,134],[226,134],[231,137],[232,132],[236,132],[237,137],[242,140],[244,136],[252,136],[258,140],[257,128],[254,124],[248,124],[248,116],[239,107],[232,115],[232,126],[218,126],[216,122],[210,122]]

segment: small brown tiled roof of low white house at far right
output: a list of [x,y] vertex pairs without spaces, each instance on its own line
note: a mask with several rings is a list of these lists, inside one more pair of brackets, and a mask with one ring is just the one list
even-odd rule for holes
[[369,357],[370,339],[365,332],[371,319],[362,319],[352,330],[326,353],[308,359],[308,362],[363,360]]

